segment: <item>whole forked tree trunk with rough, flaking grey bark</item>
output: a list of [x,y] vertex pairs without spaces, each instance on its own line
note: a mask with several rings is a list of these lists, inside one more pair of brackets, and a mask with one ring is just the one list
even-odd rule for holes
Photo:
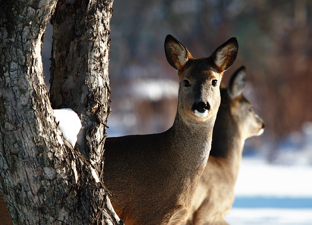
[[0,1],[1,194],[14,224],[122,224],[103,183],[95,179],[101,177],[110,113],[112,0],[62,1],[52,20],[61,24],[57,13],[71,7],[79,14],[71,20],[75,35],[64,38],[70,38],[69,47],[76,47],[80,57],[71,50],[62,55],[68,46],[59,53],[54,48],[51,79],[52,106],[72,108],[81,116],[84,129],[75,149],[56,124],[43,80],[41,44],[56,2]]

